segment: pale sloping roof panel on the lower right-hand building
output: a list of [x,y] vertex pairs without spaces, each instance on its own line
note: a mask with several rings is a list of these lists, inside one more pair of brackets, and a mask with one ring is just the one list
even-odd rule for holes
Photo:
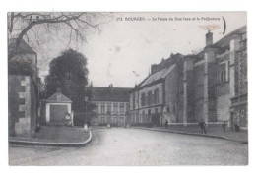
[[159,72],[156,72],[152,75],[150,75],[145,81],[143,81],[139,87],[143,87],[146,85],[149,85],[157,80],[164,79],[176,66],[176,64],[173,64],[172,66],[162,69]]

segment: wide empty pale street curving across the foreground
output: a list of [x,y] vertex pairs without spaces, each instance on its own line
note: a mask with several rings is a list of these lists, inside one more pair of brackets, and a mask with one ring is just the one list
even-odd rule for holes
[[95,129],[84,147],[10,146],[10,165],[246,165],[248,145],[140,129]]

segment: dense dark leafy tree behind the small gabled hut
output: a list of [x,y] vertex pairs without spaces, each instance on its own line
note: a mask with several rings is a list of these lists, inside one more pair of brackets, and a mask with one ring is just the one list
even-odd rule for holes
[[45,78],[47,97],[61,88],[61,92],[73,101],[73,110],[82,112],[86,109],[87,85],[87,59],[83,54],[68,49],[50,62],[49,75]]

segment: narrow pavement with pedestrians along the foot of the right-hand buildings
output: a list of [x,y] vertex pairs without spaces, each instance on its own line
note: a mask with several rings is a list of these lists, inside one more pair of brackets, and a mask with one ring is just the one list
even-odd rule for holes
[[224,132],[222,125],[209,125],[206,128],[207,134],[202,134],[200,128],[197,125],[169,125],[166,129],[165,127],[131,127],[138,129],[145,129],[151,131],[161,131],[161,132],[169,132],[176,134],[186,134],[186,135],[194,135],[194,136],[203,136],[210,138],[219,138],[224,140],[229,140],[233,142],[239,142],[242,144],[248,144],[248,131],[241,130],[240,132],[234,132],[232,130],[227,129]]

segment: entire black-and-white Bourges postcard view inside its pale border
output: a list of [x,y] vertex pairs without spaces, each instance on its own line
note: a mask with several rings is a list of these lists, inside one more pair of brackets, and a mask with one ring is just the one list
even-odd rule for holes
[[6,18],[10,166],[248,165],[246,11]]

